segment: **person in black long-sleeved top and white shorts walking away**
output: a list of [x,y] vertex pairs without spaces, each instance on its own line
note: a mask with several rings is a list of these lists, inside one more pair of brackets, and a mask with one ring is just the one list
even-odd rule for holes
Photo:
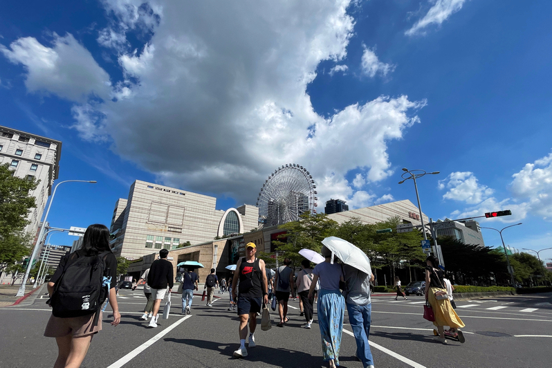
[[167,293],[167,286],[169,286],[169,298],[174,286],[174,271],[172,270],[172,263],[167,261],[167,255],[169,251],[166,249],[159,250],[159,258],[149,267],[149,274],[147,275],[147,284],[151,289],[151,297],[154,299],[154,309],[149,320],[148,326],[157,327],[157,315],[161,300]]

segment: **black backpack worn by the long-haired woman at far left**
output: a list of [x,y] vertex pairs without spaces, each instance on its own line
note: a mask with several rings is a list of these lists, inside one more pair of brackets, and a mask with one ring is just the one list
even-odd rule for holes
[[[100,310],[109,295],[111,277],[105,259],[110,252],[87,256],[77,250],[68,256],[61,277],[54,286],[50,300],[52,314],[59,318],[91,315]],[[95,315],[98,323],[100,313]]]

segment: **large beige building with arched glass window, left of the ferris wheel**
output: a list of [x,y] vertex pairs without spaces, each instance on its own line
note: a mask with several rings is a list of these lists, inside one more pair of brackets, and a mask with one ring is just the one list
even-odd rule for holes
[[226,211],[216,210],[216,205],[212,196],[137,180],[128,199],[118,199],[113,210],[113,252],[138,259],[187,241],[204,243],[257,228],[259,209],[254,205]]

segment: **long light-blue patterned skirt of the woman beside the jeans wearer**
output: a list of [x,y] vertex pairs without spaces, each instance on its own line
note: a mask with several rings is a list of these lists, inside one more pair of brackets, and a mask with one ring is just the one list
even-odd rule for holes
[[339,348],[343,332],[345,300],[339,290],[320,290],[318,295],[318,326],[322,338],[324,361],[333,359],[339,365]]

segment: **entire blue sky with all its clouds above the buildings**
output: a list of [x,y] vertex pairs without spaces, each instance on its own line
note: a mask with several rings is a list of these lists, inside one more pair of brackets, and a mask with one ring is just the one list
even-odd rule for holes
[[[89,0],[0,12],[2,125],[63,141],[53,226],[109,225],[135,180],[255,204],[285,163],[319,208],[410,199],[552,247],[548,1]],[[74,238],[53,235],[52,243]],[[500,239],[484,230],[488,246]],[[552,250],[541,252],[552,258]]]

